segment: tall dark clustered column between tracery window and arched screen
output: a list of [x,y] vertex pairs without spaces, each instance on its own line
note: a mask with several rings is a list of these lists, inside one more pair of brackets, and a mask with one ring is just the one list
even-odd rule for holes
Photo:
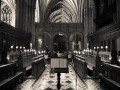
[[[16,28],[32,35],[32,46],[35,45],[35,1],[16,0]],[[29,42],[30,41],[30,42]]]

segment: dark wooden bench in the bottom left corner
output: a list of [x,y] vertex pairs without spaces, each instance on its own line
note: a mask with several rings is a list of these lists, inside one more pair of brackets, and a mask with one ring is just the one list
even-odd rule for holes
[[17,72],[16,63],[0,66],[0,90],[12,90],[10,87],[16,80],[22,80],[23,72]]

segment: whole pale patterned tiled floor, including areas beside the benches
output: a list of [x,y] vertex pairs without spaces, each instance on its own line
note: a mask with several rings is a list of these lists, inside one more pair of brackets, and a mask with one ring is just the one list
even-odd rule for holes
[[[77,78],[76,78],[77,77]],[[76,84],[77,83],[77,84]],[[15,90],[57,90],[57,74],[51,73],[49,66],[38,79],[27,79],[18,85]],[[73,68],[69,66],[69,73],[61,74],[61,90],[107,90],[99,86],[99,81],[95,79],[81,80],[76,76]]]

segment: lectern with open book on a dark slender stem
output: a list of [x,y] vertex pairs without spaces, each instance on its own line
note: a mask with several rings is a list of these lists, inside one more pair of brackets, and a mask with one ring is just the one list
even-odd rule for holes
[[51,72],[57,73],[57,89],[60,90],[60,73],[68,73],[68,61],[65,58],[51,58]]

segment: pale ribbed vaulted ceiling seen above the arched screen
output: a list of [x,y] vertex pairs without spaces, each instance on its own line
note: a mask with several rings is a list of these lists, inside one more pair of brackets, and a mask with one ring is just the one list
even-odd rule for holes
[[36,22],[83,22],[84,0],[36,0]]

